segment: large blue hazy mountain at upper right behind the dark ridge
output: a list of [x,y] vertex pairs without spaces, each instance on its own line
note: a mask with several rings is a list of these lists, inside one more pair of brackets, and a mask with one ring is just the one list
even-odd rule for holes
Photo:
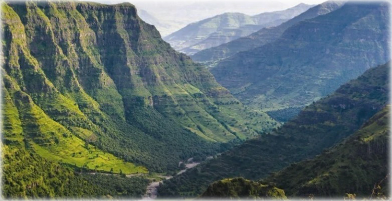
[[304,107],[387,62],[388,30],[387,4],[349,2],[222,60],[211,72],[245,104],[266,111]]

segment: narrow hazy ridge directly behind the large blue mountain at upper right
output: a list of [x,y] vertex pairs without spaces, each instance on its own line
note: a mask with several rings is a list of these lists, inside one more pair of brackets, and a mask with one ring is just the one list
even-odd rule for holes
[[263,28],[249,36],[241,37],[217,47],[204,49],[195,53],[194,55],[191,55],[190,57],[193,61],[202,62],[210,65],[210,67],[214,67],[216,62],[219,62],[224,58],[230,57],[241,51],[251,50],[253,48],[273,42],[277,40],[289,27],[303,20],[312,19],[317,16],[330,13],[340,8],[343,4],[343,2],[325,2],[308,9],[307,11],[301,13],[291,20],[288,20],[287,22],[282,23],[279,26]]

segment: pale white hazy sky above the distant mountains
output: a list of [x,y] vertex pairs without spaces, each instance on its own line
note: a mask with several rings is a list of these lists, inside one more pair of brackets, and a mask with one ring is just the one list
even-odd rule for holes
[[[85,0],[86,1],[86,0]],[[129,2],[136,6],[139,17],[155,25],[162,36],[186,25],[223,13],[256,15],[280,11],[300,3],[317,5],[326,0],[87,0],[102,4]]]

